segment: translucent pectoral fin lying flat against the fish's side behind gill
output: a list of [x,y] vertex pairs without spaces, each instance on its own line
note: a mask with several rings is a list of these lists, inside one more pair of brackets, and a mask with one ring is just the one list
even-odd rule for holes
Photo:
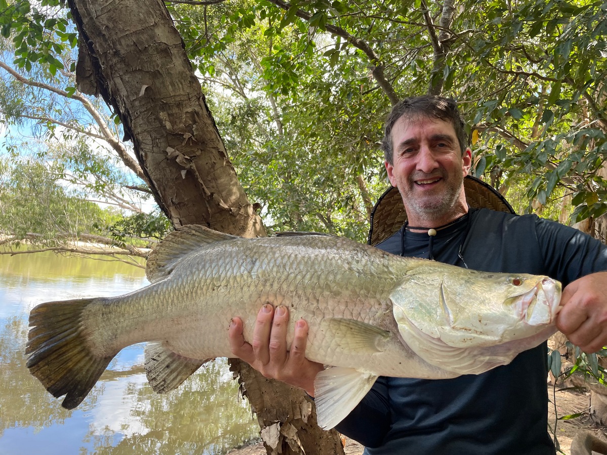
[[376,326],[339,317],[325,318],[320,322],[320,331],[331,340],[333,346],[351,353],[373,354],[385,349],[392,334]]

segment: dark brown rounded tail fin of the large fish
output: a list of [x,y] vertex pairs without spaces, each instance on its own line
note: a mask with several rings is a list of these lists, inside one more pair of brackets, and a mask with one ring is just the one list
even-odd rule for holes
[[118,352],[100,357],[89,348],[84,309],[103,298],[41,303],[30,312],[27,368],[66,409],[78,406]]

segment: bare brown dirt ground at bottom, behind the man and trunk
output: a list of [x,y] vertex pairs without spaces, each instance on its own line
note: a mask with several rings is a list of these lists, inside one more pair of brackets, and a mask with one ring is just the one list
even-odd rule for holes
[[[557,423],[557,440],[562,453],[569,455],[569,447],[571,440],[580,431],[588,431],[594,436],[602,440],[607,440],[607,427],[595,426],[588,417],[588,408],[590,407],[590,393],[577,391],[558,391],[554,394],[551,385],[548,386],[548,396],[551,400],[548,403],[548,422],[554,427],[555,423],[555,406],[553,396],[556,400],[556,413],[558,417],[569,416],[571,414],[582,413],[582,416],[571,420],[558,420]],[[346,440],[345,454],[346,455],[361,455],[362,446],[351,439]],[[265,455],[266,451],[262,443],[245,447],[239,450],[231,451],[229,455]]]

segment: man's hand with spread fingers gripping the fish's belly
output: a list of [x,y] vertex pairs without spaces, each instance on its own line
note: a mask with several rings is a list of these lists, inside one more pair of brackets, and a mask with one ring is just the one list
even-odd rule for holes
[[253,342],[249,345],[243,336],[242,320],[232,318],[228,331],[232,354],[263,376],[300,387],[314,396],[314,378],[324,366],[305,358],[308,324],[303,319],[295,324],[291,350],[287,351],[288,322],[287,307],[280,305],[274,309],[266,303],[257,314]]

